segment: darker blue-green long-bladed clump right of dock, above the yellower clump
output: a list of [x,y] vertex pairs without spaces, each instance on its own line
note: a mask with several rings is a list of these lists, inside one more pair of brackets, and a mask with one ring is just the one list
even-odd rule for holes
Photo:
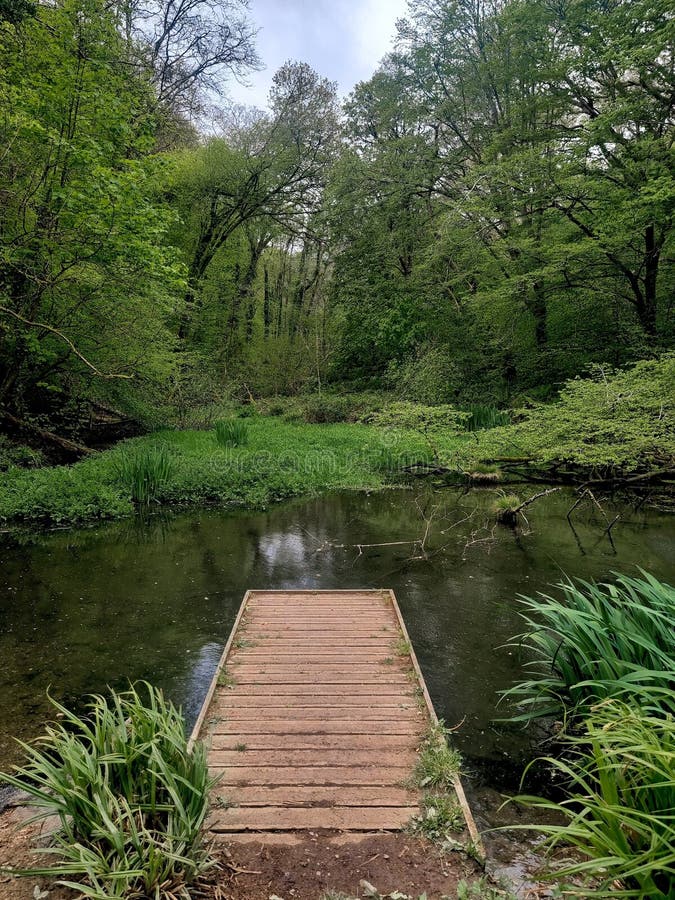
[[675,714],[675,588],[646,573],[557,587],[561,597],[520,600],[528,630],[514,646],[533,656],[534,674],[505,692],[521,710],[515,718],[584,716],[610,698]]

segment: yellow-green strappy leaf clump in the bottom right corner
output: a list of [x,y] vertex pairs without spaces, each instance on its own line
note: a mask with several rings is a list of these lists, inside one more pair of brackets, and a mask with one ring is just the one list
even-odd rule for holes
[[[518,798],[565,820],[537,825],[550,847],[562,843],[577,851],[551,874],[563,882],[586,876],[584,897],[672,898],[675,719],[608,700],[570,744],[571,757],[547,760],[569,781],[569,797],[560,803]],[[579,887],[570,889],[579,896]]]

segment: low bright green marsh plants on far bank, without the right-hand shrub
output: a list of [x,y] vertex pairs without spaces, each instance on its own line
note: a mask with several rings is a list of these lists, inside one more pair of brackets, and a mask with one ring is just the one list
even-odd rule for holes
[[[155,500],[258,509],[323,491],[376,490],[400,477],[397,459],[427,453],[424,438],[406,429],[387,434],[391,466],[386,468],[383,431],[373,426],[256,417],[247,420],[246,429],[245,446],[221,447],[208,431],[162,431],[73,466],[11,469],[0,482],[0,522],[77,524],[131,515],[138,491],[127,474],[128,460],[156,451],[170,456],[172,468],[153,489]],[[467,440],[466,435],[439,438],[448,455]]]

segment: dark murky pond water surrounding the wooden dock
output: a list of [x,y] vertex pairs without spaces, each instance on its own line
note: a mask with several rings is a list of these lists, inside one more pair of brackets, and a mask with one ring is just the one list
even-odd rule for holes
[[[537,492],[518,487],[522,496]],[[6,536],[0,545],[0,769],[51,715],[89,692],[148,679],[197,715],[247,588],[393,588],[438,715],[472,773],[480,819],[517,788],[531,732],[495,721],[498,691],[522,673],[505,644],[516,597],[563,573],[606,578],[636,566],[672,578],[672,515],[626,501],[579,507],[561,491],[518,531],[494,525],[496,492],[425,485],[340,493],[266,512],[157,512],[91,529]],[[419,542],[426,534],[422,547]],[[409,542],[409,543],[407,543]],[[371,545],[371,546],[368,546]],[[372,546],[377,545],[377,546]]]

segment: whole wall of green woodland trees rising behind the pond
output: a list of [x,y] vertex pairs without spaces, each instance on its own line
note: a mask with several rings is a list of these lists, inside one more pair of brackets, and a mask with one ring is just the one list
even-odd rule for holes
[[[516,406],[672,346],[667,0],[410,0],[264,111],[243,0],[0,0],[0,411]],[[65,426],[64,426],[65,427]]]

